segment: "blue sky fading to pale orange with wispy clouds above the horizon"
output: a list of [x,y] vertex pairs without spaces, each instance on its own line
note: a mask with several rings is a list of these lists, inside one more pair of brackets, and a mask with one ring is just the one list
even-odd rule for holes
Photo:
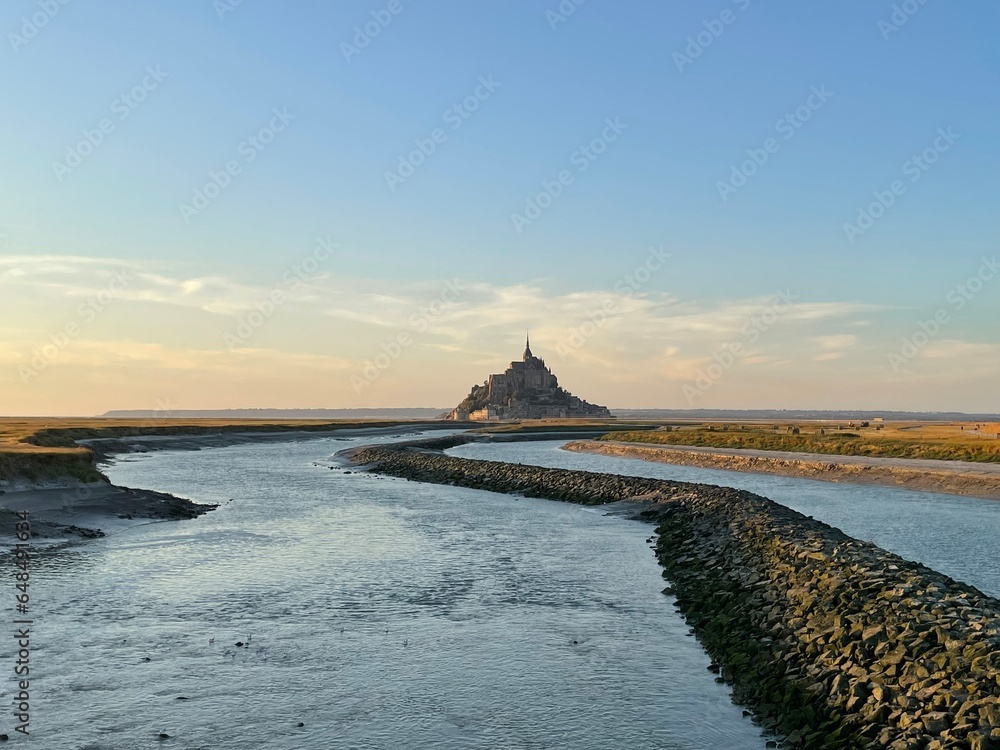
[[0,414],[1000,411],[987,0],[9,0]]

